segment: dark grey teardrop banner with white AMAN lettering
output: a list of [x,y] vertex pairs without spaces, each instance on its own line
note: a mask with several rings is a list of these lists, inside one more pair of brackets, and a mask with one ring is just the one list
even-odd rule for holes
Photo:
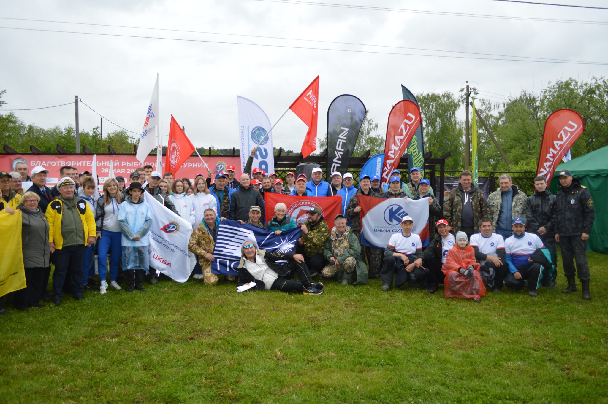
[[342,175],[348,169],[365,118],[365,105],[354,95],[339,95],[327,110],[327,168],[325,178],[331,182],[331,173]]

